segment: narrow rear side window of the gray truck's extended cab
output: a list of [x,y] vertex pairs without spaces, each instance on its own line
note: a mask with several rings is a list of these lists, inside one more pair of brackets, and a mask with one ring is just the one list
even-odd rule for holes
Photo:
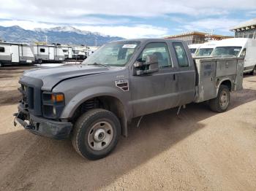
[[173,42],[173,47],[176,52],[176,57],[178,60],[178,66],[180,67],[188,67],[189,60],[187,59],[187,53],[184,50],[184,47],[181,42]]

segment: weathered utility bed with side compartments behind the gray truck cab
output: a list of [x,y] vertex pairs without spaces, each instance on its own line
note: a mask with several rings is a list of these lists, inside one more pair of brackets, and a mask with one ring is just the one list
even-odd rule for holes
[[195,102],[216,98],[219,84],[230,79],[231,89],[243,88],[244,58],[195,58],[197,71]]

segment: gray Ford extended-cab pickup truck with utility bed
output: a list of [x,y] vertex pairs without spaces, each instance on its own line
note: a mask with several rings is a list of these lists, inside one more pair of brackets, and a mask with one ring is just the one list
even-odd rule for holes
[[70,138],[80,155],[96,160],[127,136],[134,117],[203,101],[225,112],[230,92],[242,88],[243,63],[193,60],[178,40],[111,42],[81,65],[25,71],[15,124],[37,135]]

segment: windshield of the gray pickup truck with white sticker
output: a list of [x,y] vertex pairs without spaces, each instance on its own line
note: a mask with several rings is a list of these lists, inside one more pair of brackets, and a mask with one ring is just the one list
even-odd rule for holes
[[105,44],[83,61],[83,64],[124,66],[132,57],[138,44],[139,42],[135,41]]

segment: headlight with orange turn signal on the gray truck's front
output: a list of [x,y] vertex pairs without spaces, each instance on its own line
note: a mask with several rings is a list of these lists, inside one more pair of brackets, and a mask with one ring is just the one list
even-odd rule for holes
[[58,119],[65,106],[63,93],[42,93],[42,114],[44,117]]

